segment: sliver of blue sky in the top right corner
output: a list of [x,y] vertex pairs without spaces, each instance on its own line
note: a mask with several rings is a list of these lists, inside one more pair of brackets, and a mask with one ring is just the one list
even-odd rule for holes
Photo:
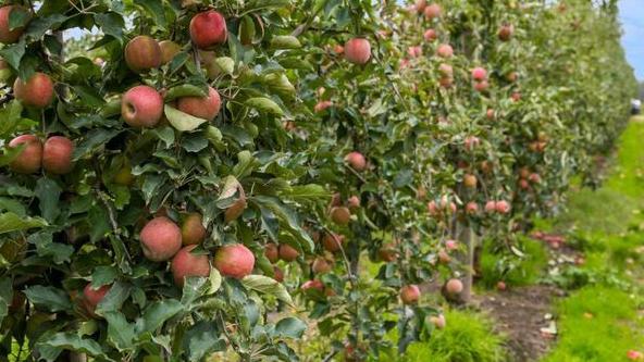
[[621,42],[637,79],[644,80],[644,0],[619,0]]

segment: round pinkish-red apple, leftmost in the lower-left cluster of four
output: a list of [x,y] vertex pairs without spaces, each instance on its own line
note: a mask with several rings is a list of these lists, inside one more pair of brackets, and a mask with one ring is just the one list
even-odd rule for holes
[[141,229],[140,241],[146,258],[156,262],[165,261],[182,247],[181,229],[165,216],[154,217]]

